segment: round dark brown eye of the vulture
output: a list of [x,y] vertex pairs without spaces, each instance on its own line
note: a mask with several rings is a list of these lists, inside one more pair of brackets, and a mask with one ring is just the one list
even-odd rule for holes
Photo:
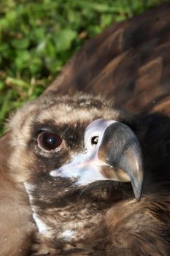
[[54,151],[62,142],[62,138],[52,132],[42,132],[38,136],[38,146],[43,151]]

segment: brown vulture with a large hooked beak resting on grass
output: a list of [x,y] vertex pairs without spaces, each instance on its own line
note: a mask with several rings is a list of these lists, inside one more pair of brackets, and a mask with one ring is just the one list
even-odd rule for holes
[[90,39],[0,140],[1,256],[170,255],[170,3]]

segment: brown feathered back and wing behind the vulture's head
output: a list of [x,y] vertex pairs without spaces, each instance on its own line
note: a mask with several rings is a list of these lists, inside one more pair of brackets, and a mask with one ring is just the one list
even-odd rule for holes
[[110,26],[80,49],[46,93],[99,93],[133,113],[158,109],[170,91],[169,13],[167,2]]

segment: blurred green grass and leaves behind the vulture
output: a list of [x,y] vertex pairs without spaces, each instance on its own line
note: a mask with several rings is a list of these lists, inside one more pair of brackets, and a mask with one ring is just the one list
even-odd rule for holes
[[1,0],[0,135],[9,111],[35,99],[90,37],[163,0]]

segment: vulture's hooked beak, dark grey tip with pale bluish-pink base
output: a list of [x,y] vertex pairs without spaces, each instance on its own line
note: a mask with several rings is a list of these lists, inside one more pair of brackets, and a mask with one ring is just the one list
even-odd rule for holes
[[50,175],[75,178],[77,185],[99,180],[131,181],[139,201],[142,165],[142,150],[131,128],[118,121],[97,119],[85,130],[85,153],[77,154],[69,164],[51,171]]

